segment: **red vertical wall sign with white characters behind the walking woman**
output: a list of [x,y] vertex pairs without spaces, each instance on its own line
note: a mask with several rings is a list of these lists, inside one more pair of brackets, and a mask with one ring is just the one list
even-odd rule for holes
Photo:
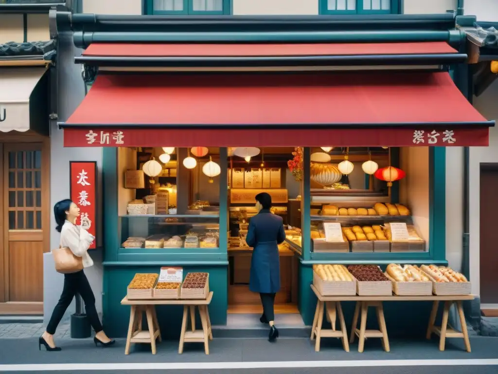
[[[71,200],[80,208],[80,217],[76,224],[97,236],[97,162],[96,161],[70,161],[69,162],[69,188]],[[97,239],[89,249],[95,249]]]

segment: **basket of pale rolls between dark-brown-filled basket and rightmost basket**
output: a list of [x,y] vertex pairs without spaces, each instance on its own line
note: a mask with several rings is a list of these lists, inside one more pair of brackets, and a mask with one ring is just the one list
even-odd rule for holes
[[389,264],[384,272],[398,296],[430,296],[432,281],[416,265]]

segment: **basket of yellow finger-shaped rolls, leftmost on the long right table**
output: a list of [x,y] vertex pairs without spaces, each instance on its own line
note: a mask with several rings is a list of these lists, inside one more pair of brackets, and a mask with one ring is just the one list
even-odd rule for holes
[[322,296],[356,295],[356,279],[344,265],[313,265],[313,285]]

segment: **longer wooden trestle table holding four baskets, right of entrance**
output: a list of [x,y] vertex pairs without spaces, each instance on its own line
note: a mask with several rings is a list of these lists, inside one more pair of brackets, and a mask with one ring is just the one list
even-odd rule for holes
[[[342,313],[341,301],[356,301],[355,314],[353,316],[353,326],[351,331],[350,343],[354,342],[355,335],[359,338],[358,352],[363,352],[365,339],[381,338],[382,346],[386,352],[389,352],[389,340],[387,338],[387,329],[385,327],[384,313],[382,302],[384,301],[432,301],[432,312],[429,318],[429,325],[427,327],[426,338],[430,339],[432,333],[439,335],[439,350],[444,351],[446,338],[463,338],[467,352],[471,352],[469,334],[467,332],[467,323],[463,311],[462,301],[474,300],[474,295],[449,295],[449,296],[322,296],[311,285],[311,289],[318,298],[317,307],[315,311],[315,318],[313,319],[313,326],[311,330],[311,339],[316,335],[315,351],[320,351],[320,338],[321,337],[335,337],[341,338],[343,347],[346,352],[349,352],[349,346],[345,343],[347,340],[346,325],[344,323],[344,315]],[[434,326],[439,303],[444,301],[443,321],[440,327]],[[460,326],[462,332],[455,331],[448,328],[448,315],[450,307],[453,303],[457,303],[458,315],[460,317]],[[322,330],[323,323],[323,306],[327,306],[328,314],[330,314],[332,330]],[[368,307],[375,307],[377,310],[377,321],[379,330],[366,330],[367,327],[367,311]],[[341,322],[341,331],[335,331],[335,310],[337,309],[339,321]],[[330,311],[333,311],[332,313]],[[361,311],[360,329],[357,329],[358,318]],[[345,338],[346,337],[346,338]]]

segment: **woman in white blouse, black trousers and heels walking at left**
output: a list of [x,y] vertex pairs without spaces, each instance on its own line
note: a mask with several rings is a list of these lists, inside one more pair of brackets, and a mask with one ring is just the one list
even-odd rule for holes
[[[92,266],[93,261],[87,250],[95,237],[81,226],[76,225],[80,208],[70,199],[65,199],[54,205],[54,215],[57,222],[56,230],[61,233],[60,246],[69,248],[75,256],[81,257],[83,268]],[[94,293],[85,273],[80,270],[76,273],[64,274],[64,288],[61,297],[52,312],[47,329],[38,339],[38,348],[43,344],[47,351],[61,350],[55,345],[53,335],[76,294],[80,294],[85,303],[87,316],[95,330],[95,345],[101,344],[103,347],[109,347],[115,343],[114,340],[107,337],[102,329],[97,309],[95,309]]]

